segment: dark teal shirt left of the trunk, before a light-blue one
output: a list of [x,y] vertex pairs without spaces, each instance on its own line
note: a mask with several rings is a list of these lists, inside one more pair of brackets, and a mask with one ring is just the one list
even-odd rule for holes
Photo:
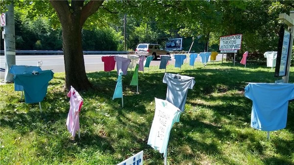
[[38,103],[46,97],[47,87],[53,74],[51,70],[41,70],[35,74],[17,74],[13,79],[15,83],[24,87],[25,103]]

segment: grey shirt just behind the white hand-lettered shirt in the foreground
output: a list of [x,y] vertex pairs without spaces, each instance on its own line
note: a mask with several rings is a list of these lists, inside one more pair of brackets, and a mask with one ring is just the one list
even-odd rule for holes
[[195,84],[194,77],[165,73],[162,82],[168,84],[166,100],[183,112],[188,89],[193,89]]

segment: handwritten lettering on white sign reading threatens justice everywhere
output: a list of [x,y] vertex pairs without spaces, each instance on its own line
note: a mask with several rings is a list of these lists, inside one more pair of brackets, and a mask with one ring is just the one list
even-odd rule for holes
[[220,50],[240,50],[242,34],[224,36],[220,38]]

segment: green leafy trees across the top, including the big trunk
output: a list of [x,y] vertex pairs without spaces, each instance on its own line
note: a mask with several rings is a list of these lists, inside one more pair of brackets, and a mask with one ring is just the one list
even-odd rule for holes
[[[85,45],[91,47],[91,41],[83,40],[83,37],[92,35],[95,36],[93,40],[112,38],[109,41],[117,46],[108,49],[122,50],[124,15],[128,49],[134,49],[139,42],[164,44],[167,38],[172,37],[190,38],[190,41],[194,37],[198,47],[207,41],[209,46],[213,46],[219,44],[221,36],[243,34],[241,52],[265,52],[277,49],[281,23],[277,19],[278,14],[293,10],[294,1],[19,0],[15,2],[15,7],[18,8],[16,15],[26,20],[22,26],[29,27],[23,28],[24,31],[16,29],[20,32],[17,44],[23,44],[31,33],[35,33],[38,39],[32,40],[36,42],[28,49],[59,49],[60,46],[49,38],[62,41],[66,63],[65,87],[75,84],[77,89],[86,90],[92,85],[86,78],[82,50]],[[1,11],[4,9],[1,8]],[[108,30],[105,31],[105,28]],[[63,32],[62,38],[60,31]],[[92,47],[98,49],[94,45]],[[78,75],[73,68],[76,64]]]

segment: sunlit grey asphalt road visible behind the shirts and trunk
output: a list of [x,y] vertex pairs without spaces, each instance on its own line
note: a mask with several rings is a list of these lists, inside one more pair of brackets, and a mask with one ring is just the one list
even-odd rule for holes
[[[86,72],[96,72],[104,70],[104,62],[101,61],[102,56],[109,55],[84,55],[85,69]],[[127,57],[127,55],[118,55]],[[172,56],[173,57],[173,56]],[[221,61],[222,54],[217,56],[217,61]],[[225,59],[225,56],[224,56]],[[64,72],[64,58],[63,55],[43,55],[43,56],[16,56],[16,65],[32,65],[37,66],[38,61],[42,60],[43,64],[41,66],[42,70],[52,69],[54,73]],[[196,62],[200,62],[200,57],[196,58]],[[171,64],[174,64],[174,59],[172,58]],[[160,60],[151,61],[151,66],[159,66]],[[0,68],[5,68],[4,56],[0,56]],[[4,79],[4,72],[0,72],[0,79]]]

